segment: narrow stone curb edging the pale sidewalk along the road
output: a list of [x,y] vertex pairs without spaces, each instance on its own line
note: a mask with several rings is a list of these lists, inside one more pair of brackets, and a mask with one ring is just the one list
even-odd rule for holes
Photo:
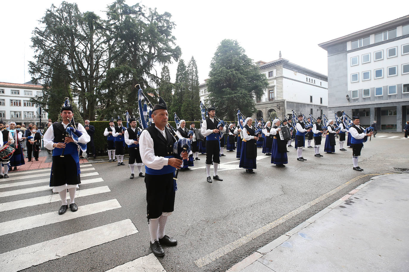
[[327,214],[329,211],[331,211],[332,209],[334,209],[335,207],[340,205],[342,202],[344,202],[345,200],[347,200],[348,198],[353,196],[355,193],[359,192],[366,185],[373,182],[373,180],[375,180],[377,178],[380,178],[380,177],[383,177],[383,176],[386,176],[386,175],[393,175],[393,174],[392,173],[386,173],[386,174],[380,174],[380,175],[372,177],[370,180],[368,180],[367,182],[365,182],[365,183],[361,184],[360,186],[356,187],[355,189],[350,191],[348,194],[346,194],[345,196],[343,196],[339,200],[336,200],[335,202],[328,205],[323,210],[319,211],[317,214],[315,214],[315,215],[311,216],[310,218],[308,218],[307,220],[305,220],[303,223],[297,225],[296,227],[294,227],[290,231],[286,232],[285,234],[281,235],[280,237],[276,238],[272,242],[270,242],[267,245],[261,247],[256,252],[254,252],[250,256],[247,256],[242,261],[236,263],[235,265],[233,265],[226,272],[239,272],[239,271],[245,269],[247,266],[251,265],[252,263],[256,262],[259,258],[263,257],[265,254],[267,254],[268,252],[274,250],[274,248],[278,247],[279,245],[281,245],[282,243],[287,241],[291,236],[293,236],[294,234],[297,234],[301,229],[307,227],[311,223],[314,223],[317,219],[319,219],[322,216],[324,216],[325,214]]

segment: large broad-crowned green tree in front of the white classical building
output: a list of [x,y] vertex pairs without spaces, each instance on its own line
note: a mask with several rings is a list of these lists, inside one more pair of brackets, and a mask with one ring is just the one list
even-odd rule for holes
[[218,117],[233,120],[237,108],[251,116],[256,111],[254,99],[261,99],[268,82],[243,47],[236,40],[222,40],[210,68],[206,84]]

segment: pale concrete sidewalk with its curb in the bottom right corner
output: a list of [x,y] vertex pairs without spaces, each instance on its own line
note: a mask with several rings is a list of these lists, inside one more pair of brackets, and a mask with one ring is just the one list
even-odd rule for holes
[[228,272],[409,271],[409,174],[371,178]]

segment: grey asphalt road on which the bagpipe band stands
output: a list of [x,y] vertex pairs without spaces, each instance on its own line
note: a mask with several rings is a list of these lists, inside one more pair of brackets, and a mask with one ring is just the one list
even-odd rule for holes
[[[303,157],[307,159],[305,162],[298,162],[296,150],[288,148],[289,163],[285,168],[271,164],[270,157],[265,156],[261,153],[261,148],[258,148],[257,169],[254,170],[256,174],[247,174],[244,169],[239,169],[236,153],[225,151],[226,157],[221,157],[218,172],[223,181],[209,184],[206,182],[204,169],[205,155],[199,155],[201,160],[195,161],[193,170],[179,172],[175,211],[166,225],[166,234],[176,238],[178,246],[165,247],[166,254],[159,259],[160,263],[168,272],[226,271],[351,189],[368,181],[371,176],[405,171],[409,162],[409,140],[400,139],[403,137],[401,134],[383,135],[387,136],[380,138],[382,134],[379,133],[377,138],[364,144],[359,160],[363,172],[352,169],[351,148],[345,146],[347,151],[339,151],[338,142],[335,154],[326,154],[322,150],[320,153],[324,157],[321,158],[314,157],[313,148],[304,148]],[[394,135],[399,137],[387,138]],[[324,146],[321,149],[324,149]],[[4,234],[0,236],[0,261],[1,257],[13,250],[46,243],[52,239],[55,239],[52,245],[54,247],[69,247],[64,239],[58,238],[83,231],[86,233],[88,229],[126,219],[130,219],[137,233],[85,250],[74,249],[73,253],[67,256],[50,258],[51,261],[31,266],[24,271],[103,272],[151,253],[144,179],[135,177],[130,180],[128,166],[117,166],[115,162],[92,163],[92,166],[88,165],[82,169],[83,174],[94,173],[82,178],[83,181],[100,179],[94,183],[81,184],[75,201],[79,209],[92,203],[115,199],[121,207]],[[34,174],[39,176],[25,178]],[[0,194],[4,192],[0,197],[0,205],[13,202],[7,206],[9,208],[0,210],[0,224],[52,212],[58,217],[56,211],[61,202],[50,202],[50,190],[14,195],[7,193],[46,186],[46,181],[1,187],[2,184],[45,179],[47,175],[48,171],[11,173],[9,180],[0,180]],[[13,177],[20,178],[11,180]],[[108,187],[109,190],[87,196],[87,189],[96,187]],[[37,200],[33,199],[40,196],[45,196],[47,200],[43,204],[36,204]],[[21,200],[26,206],[18,208],[17,202],[14,202],[17,200]],[[72,212],[67,211],[68,215],[69,213]],[[88,234],[90,235],[93,234]],[[100,238],[97,236],[95,239]],[[109,234],[103,236],[108,237]],[[73,237],[81,240],[81,236]],[[38,253],[38,256],[41,254]]]

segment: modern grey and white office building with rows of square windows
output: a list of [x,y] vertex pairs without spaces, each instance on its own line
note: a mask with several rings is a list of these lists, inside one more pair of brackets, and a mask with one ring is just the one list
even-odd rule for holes
[[328,52],[328,115],[402,131],[409,120],[409,15],[319,44]]

